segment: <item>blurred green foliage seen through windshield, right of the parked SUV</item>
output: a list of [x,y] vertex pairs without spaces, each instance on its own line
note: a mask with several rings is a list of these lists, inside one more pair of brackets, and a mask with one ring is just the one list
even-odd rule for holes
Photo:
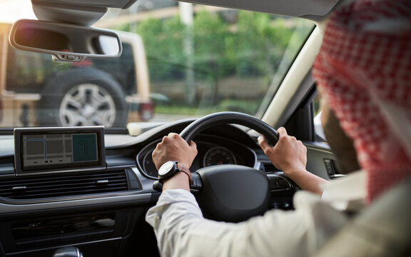
[[142,36],[146,47],[151,92],[168,98],[157,103],[156,113],[255,114],[274,74],[283,76],[303,41],[293,43],[297,23],[234,10],[198,11],[191,26],[179,16],[140,21],[132,32]]

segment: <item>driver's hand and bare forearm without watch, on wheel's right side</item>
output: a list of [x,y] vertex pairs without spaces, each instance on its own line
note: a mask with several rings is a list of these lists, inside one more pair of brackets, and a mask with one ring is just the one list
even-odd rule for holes
[[328,183],[328,181],[305,169],[307,165],[307,148],[294,136],[288,136],[283,127],[278,129],[278,136],[278,142],[274,147],[271,147],[263,136],[258,138],[260,147],[270,158],[273,165],[284,171],[285,175],[304,190],[322,194],[323,189],[320,188],[320,183]]

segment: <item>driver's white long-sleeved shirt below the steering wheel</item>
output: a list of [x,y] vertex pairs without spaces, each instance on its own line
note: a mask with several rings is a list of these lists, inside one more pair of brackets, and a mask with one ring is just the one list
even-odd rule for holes
[[[351,176],[338,179],[338,196]],[[347,191],[360,192],[354,200],[363,198],[363,177],[357,174],[362,182],[347,185]],[[154,228],[161,256],[178,257],[311,256],[347,222],[345,214],[312,193],[298,191],[293,202],[295,211],[271,210],[245,222],[225,223],[203,218],[190,192],[173,189],[161,193],[146,221]]]

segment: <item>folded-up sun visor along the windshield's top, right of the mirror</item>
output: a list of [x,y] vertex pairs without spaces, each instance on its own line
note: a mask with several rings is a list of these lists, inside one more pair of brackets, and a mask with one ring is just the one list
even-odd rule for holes
[[308,18],[325,16],[339,0],[183,0],[193,4]]

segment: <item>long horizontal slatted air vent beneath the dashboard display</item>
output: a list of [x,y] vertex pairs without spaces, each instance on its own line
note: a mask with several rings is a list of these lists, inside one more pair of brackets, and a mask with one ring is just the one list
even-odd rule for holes
[[9,199],[44,199],[127,190],[124,170],[0,178],[0,196]]

